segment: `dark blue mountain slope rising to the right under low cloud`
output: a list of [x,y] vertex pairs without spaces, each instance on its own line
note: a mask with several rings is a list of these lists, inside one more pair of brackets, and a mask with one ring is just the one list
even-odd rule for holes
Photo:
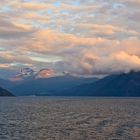
[[107,76],[94,83],[83,84],[64,92],[72,96],[140,96],[140,72]]

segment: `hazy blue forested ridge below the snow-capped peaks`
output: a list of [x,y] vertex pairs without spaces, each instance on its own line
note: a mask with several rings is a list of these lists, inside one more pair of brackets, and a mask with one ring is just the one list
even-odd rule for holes
[[[43,72],[44,74],[44,72]],[[81,84],[95,82],[97,78],[83,78],[71,75],[49,78],[27,78],[8,88],[17,96],[22,95],[57,95],[64,90],[77,87]]]

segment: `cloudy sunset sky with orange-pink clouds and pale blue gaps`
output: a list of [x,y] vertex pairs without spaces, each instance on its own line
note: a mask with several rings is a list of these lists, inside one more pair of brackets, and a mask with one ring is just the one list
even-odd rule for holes
[[140,0],[0,0],[0,78],[140,70]]

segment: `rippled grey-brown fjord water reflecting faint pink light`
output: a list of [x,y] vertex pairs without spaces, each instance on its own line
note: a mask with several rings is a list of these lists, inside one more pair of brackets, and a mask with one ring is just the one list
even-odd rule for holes
[[0,140],[139,140],[140,98],[0,98]]

